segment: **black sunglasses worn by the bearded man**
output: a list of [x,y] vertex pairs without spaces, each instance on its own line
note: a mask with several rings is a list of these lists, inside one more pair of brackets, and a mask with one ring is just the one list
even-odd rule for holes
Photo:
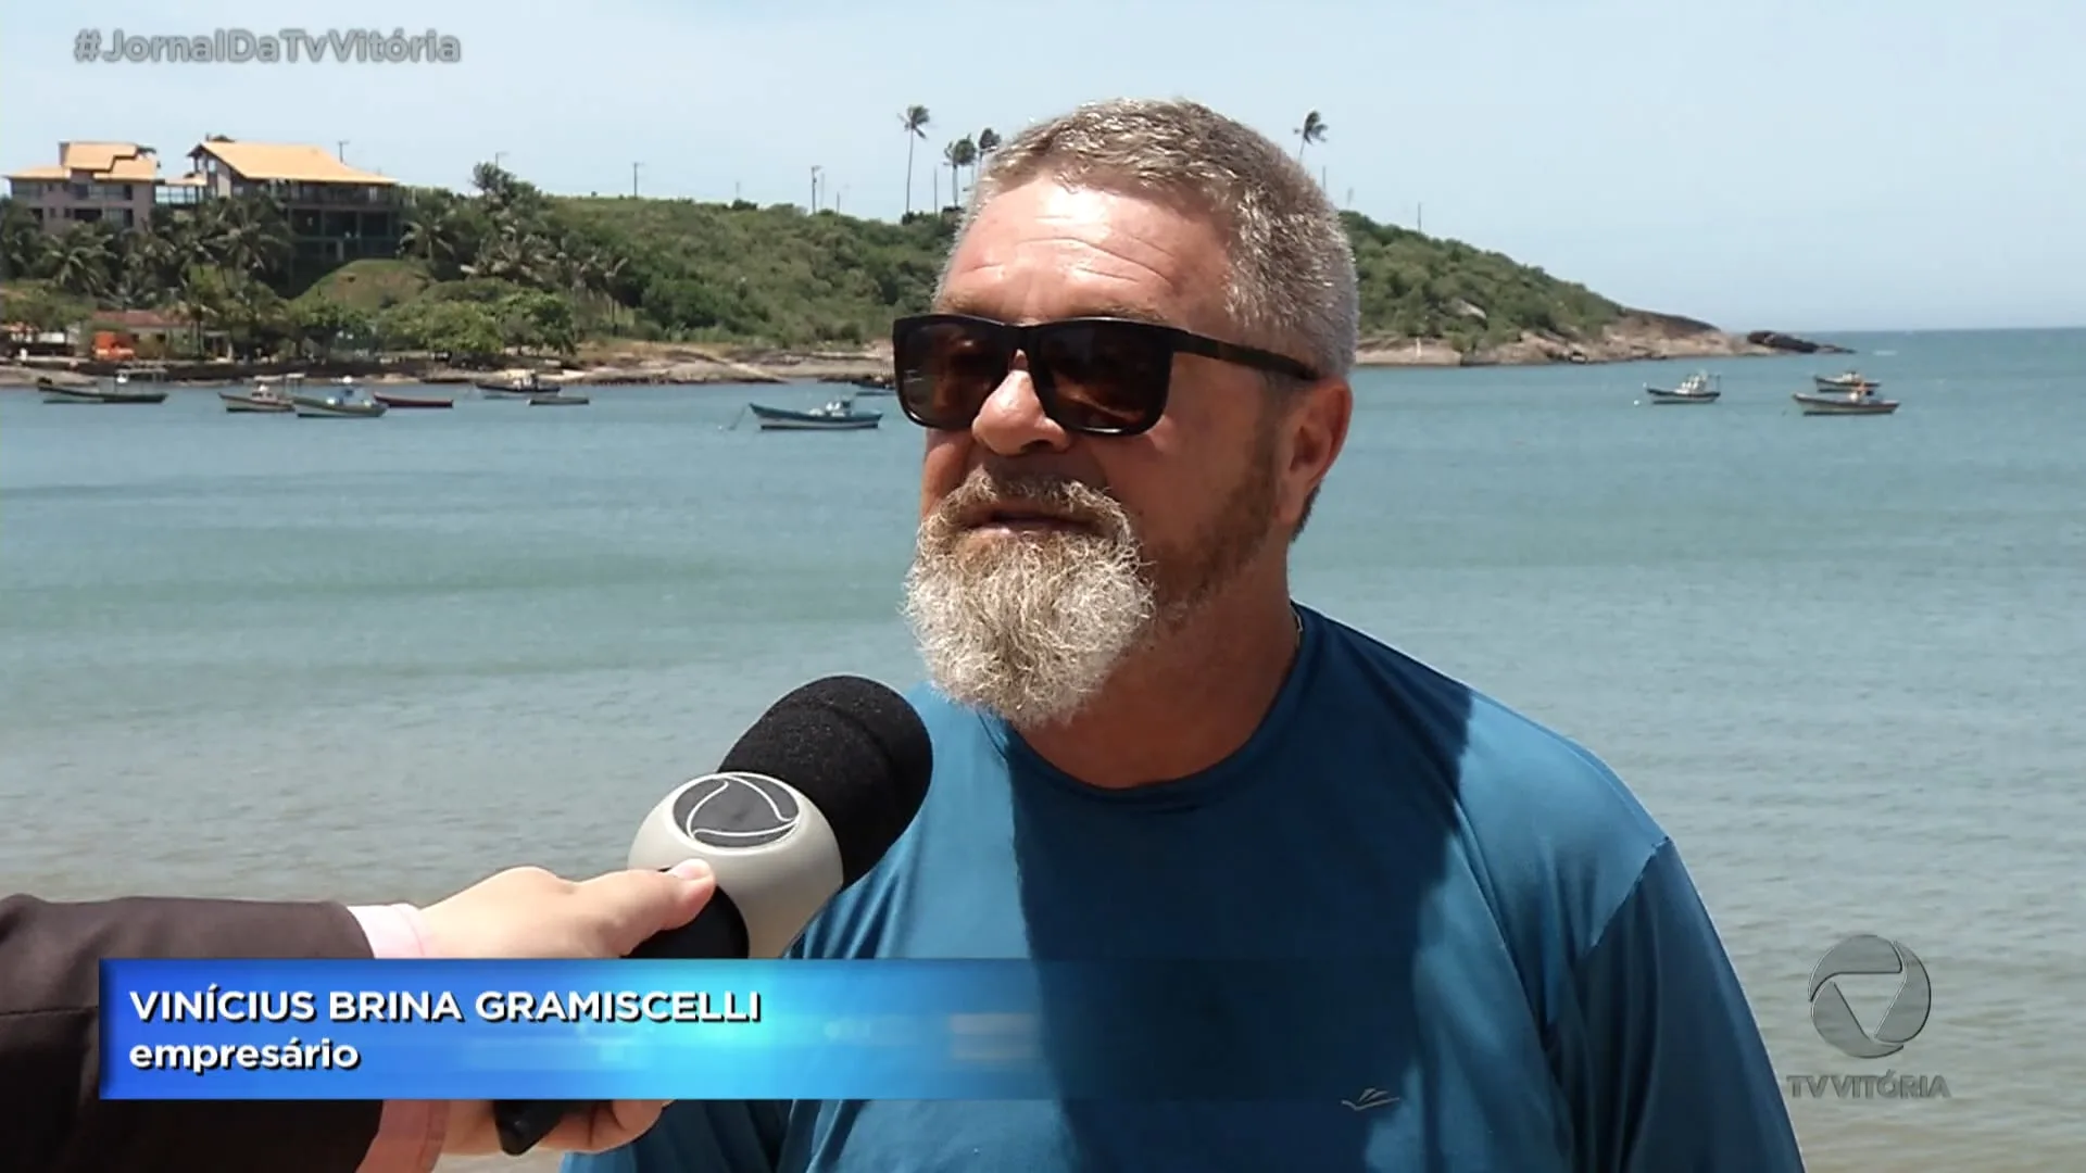
[[922,428],[970,428],[1014,355],[1028,357],[1037,401],[1066,432],[1135,436],[1166,413],[1174,355],[1202,355],[1312,382],[1308,365],[1156,321],[1066,317],[1014,326],[964,313],[922,313],[891,326],[897,399]]

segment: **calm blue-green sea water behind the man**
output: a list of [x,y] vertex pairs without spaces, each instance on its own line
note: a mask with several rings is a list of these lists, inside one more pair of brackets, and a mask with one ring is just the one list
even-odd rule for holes
[[[1946,1079],[1794,1100],[1813,1169],[2076,1169],[2086,332],[1857,344],[1898,415],[1796,415],[1834,359],[1717,363],[1706,409],[1633,405],[1683,365],[1362,374],[1297,593],[1608,758],[1781,1073]],[[920,436],[730,428],[822,390],[378,422],[0,394],[0,889],[432,900],[617,866],[782,691],[918,676]],[[1932,973],[1888,1060],[1811,1027],[1850,933]]]

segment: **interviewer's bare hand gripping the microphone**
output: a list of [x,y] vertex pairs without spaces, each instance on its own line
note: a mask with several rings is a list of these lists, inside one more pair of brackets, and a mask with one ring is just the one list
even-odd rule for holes
[[[718,889],[709,864],[690,860],[665,872],[609,872],[565,881],[542,868],[513,868],[428,908],[428,956],[434,958],[620,958],[665,929],[678,929]],[[645,1135],[663,1100],[595,1104],[559,1123],[538,1148],[601,1152]],[[492,1104],[448,1106],[444,1154],[499,1152]]]

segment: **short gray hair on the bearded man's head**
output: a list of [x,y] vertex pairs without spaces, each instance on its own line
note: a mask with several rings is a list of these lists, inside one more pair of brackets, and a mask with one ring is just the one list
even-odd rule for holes
[[1354,369],[1360,307],[1348,232],[1318,182],[1268,136],[1187,100],[1085,104],[987,157],[962,232],[993,196],[1037,177],[1214,217],[1231,261],[1224,309],[1243,334],[1235,340],[1300,359],[1320,378]]

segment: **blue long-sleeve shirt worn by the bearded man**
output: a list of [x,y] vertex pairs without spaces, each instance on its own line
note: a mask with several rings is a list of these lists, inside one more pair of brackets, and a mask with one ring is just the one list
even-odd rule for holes
[[[1097,791],[928,689],[920,818],[807,958],[1375,966],[1352,1021],[1241,1035],[1352,1096],[1252,1104],[680,1102],[565,1173],[1798,1173],[1752,1012],[1679,854],[1587,751],[1302,609],[1227,762]],[[1081,1019],[1068,1014],[1066,1031]],[[1135,1046],[1120,1039],[1118,1046]],[[1337,1050],[1339,1054],[1331,1054]]]

